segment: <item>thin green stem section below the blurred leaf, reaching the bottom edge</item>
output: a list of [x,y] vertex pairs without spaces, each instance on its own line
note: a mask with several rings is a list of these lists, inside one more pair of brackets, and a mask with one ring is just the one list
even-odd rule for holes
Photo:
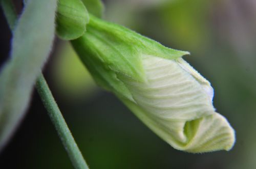
[[86,161],[83,159],[79,148],[63,118],[61,112],[52,96],[52,93],[42,74],[39,75],[36,81],[36,90],[39,93],[42,102],[44,103],[50,119],[54,124],[63,146],[69,154],[69,157],[75,168],[89,168]]

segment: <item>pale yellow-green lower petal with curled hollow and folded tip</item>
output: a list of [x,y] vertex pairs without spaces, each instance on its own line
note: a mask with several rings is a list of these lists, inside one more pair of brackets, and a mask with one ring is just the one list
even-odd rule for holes
[[148,128],[175,149],[191,153],[228,151],[235,142],[234,130],[217,112],[193,121],[166,120],[151,116],[134,102],[120,99]]

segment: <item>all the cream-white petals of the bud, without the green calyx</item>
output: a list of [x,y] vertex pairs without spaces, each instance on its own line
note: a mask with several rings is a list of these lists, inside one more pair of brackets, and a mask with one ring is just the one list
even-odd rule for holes
[[123,102],[149,128],[178,150],[229,150],[234,131],[212,106],[210,83],[184,60],[143,55],[147,81],[119,76],[136,103]]

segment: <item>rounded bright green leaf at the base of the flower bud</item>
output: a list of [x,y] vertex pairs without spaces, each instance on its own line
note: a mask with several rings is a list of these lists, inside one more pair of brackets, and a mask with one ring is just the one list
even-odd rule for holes
[[56,31],[63,40],[77,39],[86,32],[89,14],[80,0],[59,0]]

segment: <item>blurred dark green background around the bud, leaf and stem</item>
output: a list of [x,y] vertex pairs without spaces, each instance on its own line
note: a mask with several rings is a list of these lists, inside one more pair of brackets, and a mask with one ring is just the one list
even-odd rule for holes
[[[91,169],[255,168],[256,1],[108,0],[104,18],[184,57],[215,89],[214,105],[236,130],[229,152],[190,154],[173,149],[114,95],[98,88],[68,42],[56,38],[44,74]],[[21,8],[21,1],[16,2]],[[11,33],[1,11],[1,64]],[[36,92],[0,168],[72,168]]]

